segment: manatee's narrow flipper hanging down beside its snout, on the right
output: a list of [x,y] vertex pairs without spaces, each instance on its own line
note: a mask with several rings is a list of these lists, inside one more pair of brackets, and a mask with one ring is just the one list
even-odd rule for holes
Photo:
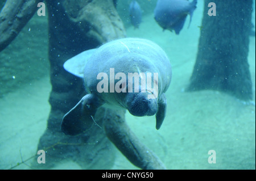
[[167,100],[166,95],[163,93],[158,100],[158,112],[156,112],[156,129],[160,129],[164,117],[166,116]]

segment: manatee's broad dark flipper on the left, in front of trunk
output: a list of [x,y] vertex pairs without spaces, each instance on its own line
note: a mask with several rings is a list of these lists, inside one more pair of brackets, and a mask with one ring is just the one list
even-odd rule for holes
[[92,127],[93,116],[102,103],[93,94],[85,95],[68,113],[61,122],[61,131],[75,136]]

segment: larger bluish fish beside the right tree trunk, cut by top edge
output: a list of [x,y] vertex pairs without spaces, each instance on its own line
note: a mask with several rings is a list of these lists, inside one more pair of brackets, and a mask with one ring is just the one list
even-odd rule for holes
[[178,35],[183,28],[187,15],[190,15],[190,22],[193,11],[196,9],[197,0],[158,0],[154,10],[155,20],[163,30],[174,30]]

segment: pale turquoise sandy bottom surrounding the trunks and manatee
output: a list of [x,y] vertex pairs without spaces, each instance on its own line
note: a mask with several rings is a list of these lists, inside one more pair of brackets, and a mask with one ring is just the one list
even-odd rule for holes
[[[127,123],[138,138],[154,151],[167,169],[255,169],[255,37],[251,37],[249,64],[254,100],[245,103],[218,91],[185,92],[196,60],[201,15],[195,11],[191,27],[180,35],[162,31],[152,16],[141,27],[127,29],[127,36],[159,44],[170,58],[173,77],[166,92],[168,107],[162,128],[155,117],[134,117]],[[188,23],[188,22],[186,22]],[[30,169],[25,162],[36,153],[46,129],[51,84],[44,77],[0,99],[0,169]],[[216,163],[208,163],[209,150]],[[54,169],[81,169],[68,162]],[[113,169],[138,169],[117,152]]]

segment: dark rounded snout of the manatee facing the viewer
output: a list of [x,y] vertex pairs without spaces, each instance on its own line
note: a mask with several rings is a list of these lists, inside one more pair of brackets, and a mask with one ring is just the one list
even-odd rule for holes
[[126,97],[126,105],[134,116],[152,116],[158,111],[156,99],[148,99],[148,93],[129,93]]

